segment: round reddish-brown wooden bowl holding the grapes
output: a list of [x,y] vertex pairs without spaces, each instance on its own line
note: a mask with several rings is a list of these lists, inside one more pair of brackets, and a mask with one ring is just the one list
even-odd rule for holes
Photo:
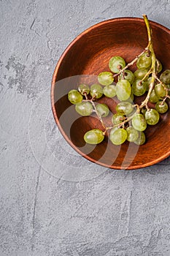
[[[164,69],[170,69],[170,30],[150,21],[155,54]],[[147,142],[142,146],[123,143],[114,146],[107,138],[97,146],[83,140],[89,129],[101,128],[95,116],[80,117],[67,94],[80,82],[92,83],[96,75],[109,71],[112,56],[122,56],[126,63],[133,60],[147,46],[147,30],[142,18],[114,18],[98,23],[76,37],[63,52],[55,67],[51,88],[51,102],[56,124],[68,143],[83,157],[113,169],[136,169],[153,165],[169,157],[170,110],[161,115],[157,125],[147,127]],[[136,69],[131,67],[132,71]],[[109,105],[115,113],[115,99],[102,97],[98,102]],[[106,122],[109,122],[109,118]]]

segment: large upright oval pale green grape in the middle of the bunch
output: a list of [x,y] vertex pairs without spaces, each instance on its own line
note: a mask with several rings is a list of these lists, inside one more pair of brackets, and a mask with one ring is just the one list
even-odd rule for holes
[[120,100],[126,100],[131,96],[131,83],[128,80],[119,80],[116,84],[117,98]]

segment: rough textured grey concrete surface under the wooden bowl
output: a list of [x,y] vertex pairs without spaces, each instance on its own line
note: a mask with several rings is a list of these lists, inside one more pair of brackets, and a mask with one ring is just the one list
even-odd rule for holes
[[0,256],[170,255],[170,159],[106,170],[67,145],[50,110],[77,34],[143,13],[169,27],[169,12],[169,0],[0,1]]

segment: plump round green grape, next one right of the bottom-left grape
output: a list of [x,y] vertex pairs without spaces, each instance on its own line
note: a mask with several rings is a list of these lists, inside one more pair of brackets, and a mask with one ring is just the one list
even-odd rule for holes
[[114,145],[123,144],[128,136],[126,130],[123,128],[113,129],[114,131],[109,135],[109,140],[111,140]]

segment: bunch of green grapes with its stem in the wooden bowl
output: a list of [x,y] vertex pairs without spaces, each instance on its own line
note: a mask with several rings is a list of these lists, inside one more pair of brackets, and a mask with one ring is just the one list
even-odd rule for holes
[[[77,90],[69,91],[68,99],[75,105],[77,113],[80,116],[96,113],[103,127],[102,130],[90,129],[86,132],[86,143],[101,143],[108,133],[114,145],[123,144],[125,140],[143,145],[147,125],[158,124],[160,114],[169,109],[170,69],[162,72],[163,66],[156,59],[152,46],[150,23],[147,16],[143,16],[147,26],[147,48],[128,64],[122,56],[112,56],[108,63],[109,71],[98,74],[98,83],[90,86],[82,83]],[[129,67],[135,63],[136,70],[132,72]],[[134,96],[142,95],[146,95],[144,101],[140,105],[135,104]],[[104,118],[109,116],[110,110],[106,104],[98,102],[101,97],[118,99],[116,113],[112,113],[109,127],[104,124]],[[150,103],[154,107],[150,108]]]

